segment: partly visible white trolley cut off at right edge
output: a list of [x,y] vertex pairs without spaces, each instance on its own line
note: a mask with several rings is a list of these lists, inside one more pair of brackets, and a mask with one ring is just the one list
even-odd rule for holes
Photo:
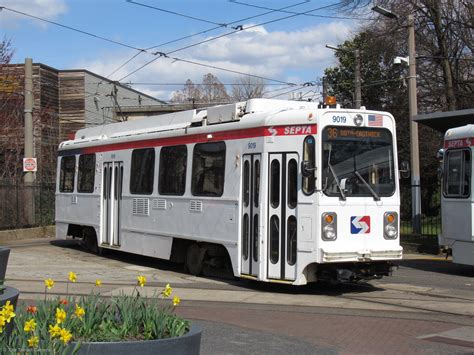
[[444,149],[439,245],[453,262],[474,265],[474,125],[449,129]]

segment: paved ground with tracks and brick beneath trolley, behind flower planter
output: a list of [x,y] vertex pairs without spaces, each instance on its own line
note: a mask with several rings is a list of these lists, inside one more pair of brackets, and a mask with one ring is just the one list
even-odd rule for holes
[[88,254],[74,242],[12,245],[9,285],[22,298],[43,294],[43,280],[65,292],[67,273],[87,294],[96,278],[102,294],[131,292],[138,274],[145,293],[170,283],[178,308],[203,329],[203,354],[380,354],[474,352],[474,268],[411,256],[394,276],[360,285],[304,287],[193,277],[181,266],[130,254]]

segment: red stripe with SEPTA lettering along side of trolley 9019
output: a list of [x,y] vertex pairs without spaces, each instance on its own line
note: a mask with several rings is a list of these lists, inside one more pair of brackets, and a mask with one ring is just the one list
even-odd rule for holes
[[209,132],[202,134],[185,135],[180,137],[145,139],[140,141],[105,144],[94,147],[81,148],[80,150],[83,154],[90,154],[114,150],[160,147],[179,144],[202,143],[209,141],[229,141],[235,139],[269,136],[300,136],[316,133],[316,124],[256,127],[248,129],[238,129],[234,131]]

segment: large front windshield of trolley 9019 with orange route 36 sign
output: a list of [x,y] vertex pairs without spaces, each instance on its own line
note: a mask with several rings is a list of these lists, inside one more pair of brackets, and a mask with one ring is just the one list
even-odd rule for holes
[[395,192],[393,139],[383,128],[326,127],[322,184],[328,196],[380,197]]

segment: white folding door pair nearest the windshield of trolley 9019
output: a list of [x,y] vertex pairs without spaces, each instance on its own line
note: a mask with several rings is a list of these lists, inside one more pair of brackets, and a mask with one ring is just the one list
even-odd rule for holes
[[298,155],[269,155],[268,278],[296,277]]

